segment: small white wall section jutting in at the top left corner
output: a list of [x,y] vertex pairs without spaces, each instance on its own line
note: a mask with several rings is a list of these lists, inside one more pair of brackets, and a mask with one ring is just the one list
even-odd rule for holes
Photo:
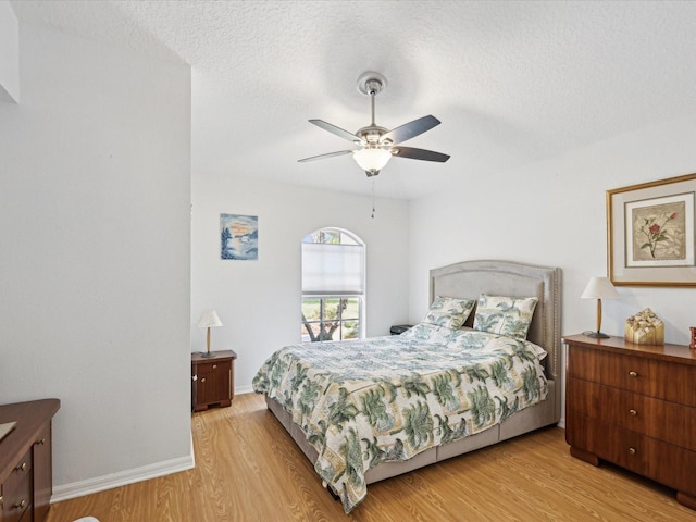
[[20,100],[20,23],[8,0],[0,0],[0,102]]

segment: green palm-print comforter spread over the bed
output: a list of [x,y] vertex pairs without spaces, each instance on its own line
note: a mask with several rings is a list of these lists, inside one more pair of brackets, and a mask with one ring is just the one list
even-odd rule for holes
[[547,396],[529,341],[420,324],[400,336],[287,346],[253,389],[290,412],[316,448],[316,473],[348,513],[364,473],[482,432]]

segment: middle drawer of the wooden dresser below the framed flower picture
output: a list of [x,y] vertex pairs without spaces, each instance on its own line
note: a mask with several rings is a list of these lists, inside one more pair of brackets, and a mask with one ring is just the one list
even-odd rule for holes
[[696,451],[696,408],[576,377],[568,377],[566,394],[576,413]]

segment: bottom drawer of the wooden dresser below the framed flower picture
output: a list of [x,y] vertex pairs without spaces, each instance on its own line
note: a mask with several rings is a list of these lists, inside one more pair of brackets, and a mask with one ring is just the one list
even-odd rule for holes
[[569,444],[688,495],[696,495],[696,451],[598,419],[567,413]]

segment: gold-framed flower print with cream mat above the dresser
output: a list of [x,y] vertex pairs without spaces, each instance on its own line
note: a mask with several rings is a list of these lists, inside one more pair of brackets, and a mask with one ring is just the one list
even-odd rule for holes
[[616,286],[696,286],[696,174],[607,190]]

